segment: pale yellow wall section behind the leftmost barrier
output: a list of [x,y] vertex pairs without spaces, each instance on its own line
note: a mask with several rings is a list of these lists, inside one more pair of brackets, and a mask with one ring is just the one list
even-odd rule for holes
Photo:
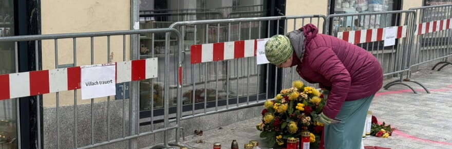
[[[130,1],[128,0],[80,0],[80,1],[41,1],[42,34],[78,33],[130,29]],[[126,37],[126,52],[123,53],[123,37],[111,36],[110,53],[107,53],[107,37],[94,38],[94,63],[107,63],[107,57],[112,62],[129,58],[129,37]],[[43,69],[55,68],[54,40],[42,41]],[[77,65],[91,64],[90,38],[77,39]],[[73,63],[72,39],[58,40],[58,63]],[[60,92],[60,106],[73,104],[74,91]],[[78,90],[78,103],[89,103],[81,100]],[[102,101],[106,98],[96,99]],[[44,95],[44,107],[55,106],[55,94]]]

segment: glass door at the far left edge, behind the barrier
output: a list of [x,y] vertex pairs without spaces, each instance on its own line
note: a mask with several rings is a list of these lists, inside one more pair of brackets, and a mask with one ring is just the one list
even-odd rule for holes
[[[0,0],[0,36],[14,35],[14,1]],[[14,43],[0,42],[0,74],[14,73]],[[16,99],[0,100],[0,148],[17,148]]]

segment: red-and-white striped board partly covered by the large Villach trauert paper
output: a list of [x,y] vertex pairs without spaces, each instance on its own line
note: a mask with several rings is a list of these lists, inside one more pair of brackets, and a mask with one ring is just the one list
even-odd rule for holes
[[[116,63],[116,83],[157,77],[157,58]],[[81,68],[0,74],[0,100],[79,89]]]

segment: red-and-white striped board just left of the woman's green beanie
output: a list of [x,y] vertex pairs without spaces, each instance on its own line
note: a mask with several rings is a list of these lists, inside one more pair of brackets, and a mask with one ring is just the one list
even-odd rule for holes
[[257,41],[245,40],[191,46],[191,63],[204,63],[254,57]]

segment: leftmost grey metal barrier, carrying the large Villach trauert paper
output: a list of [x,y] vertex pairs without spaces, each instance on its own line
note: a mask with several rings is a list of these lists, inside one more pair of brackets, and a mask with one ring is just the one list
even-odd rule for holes
[[[124,30],[124,31],[105,31],[105,32],[88,32],[88,33],[64,33],[64,34],[45,34],[45,35],[23,35],[23,36],[9,36],[9,37],[3,37],[0,38],[0,42],[13,42],[15,44],[15,66],[18,67],[18,61],[17,61],[17,53],[18,48],[17,45],[21,44],[23,42],[28,43],[34,43],[35,44],[35,54],[40,55],[40,48],[39,45],[42,45],[42,49],[50,49],[52,46],[54,47],[54,61],[48,59],[48,57],[51,57],[51,50],[43,50],[42,57],[36,57],[36,68],[40,68],[40,61],[46,62],[47,65],[51,65],[49,63],[54,63],[54,66],[42,66],[44,68],[49,68],[53,70],[64,70],[68,71],[65,74],[70,75],[69,69],[71,68],[77,68],[80,65],[92,65],[92,64],[104,64],[104,63],[111,63],[111,62],[118,62],[116,65],[118,67],[118,70],[121,70],[119,68],[119,64],[127,64],[123,63],[122,61],[128,60],[126,57],[127,50],[126,49],[132,49],[130,50],[130,59],[139,59],[139,52],[138,46],[130,45],[129,40],[130,38],[138,38],[138,35],[140,34],[151,34],[154,36],[154,34],[170,34],[173,33],[174,36],[178,38],[178,42],[180,43],[180,33],[179,31],[171,28],[164,28],[164,29],[144,29],[144,30]],[[170,49],[170,39],[166,39],[165,47],[166,49]],[[88,47],[87,45],[90,45]],[[112,45],[112,46],[110,46]],[[154,45],[154,44],[153,44]],[[177,44],[178,46],[181,46],[181,44]],[[59,48],[60,47],[60,48]],[[122,49],[121,49],[122,47]],[[85,50],[90,48],[89,50]],[[105,49],[106,48],[106,49]],[[72,50],[68,50],[72,49]],[[101,49],[101,50],[97,50]],[[153,49],[153,48],[152,48]],[[178,50],[180,47],[175,48],[177,51],[179,51],[179,59],[181,59],[181,51]],[[154,50],[154,49],[153,49]],[[44,52],[45,51],[45,52]],[[122,51],[122,52],[121,52]],[[116,54],[122,55],[121,57],[114,57]],[[60,54],[60,56],[59,56]],[[105,54],[106,57],[102,57],[102,54]],[[110,101],[111,97],[106,98],[106,105],[105,105],[105,98],[96,98],[90,100],[90,106],[87,107],[86,104],[78,104],[78,103],[88,103],[80,99],[80,89],[72,88],[73,94],[71,94],[72,89],[69,89],[67,87],[66,89],[62,90],[56,90],[53,94],[45,94],[43,96],[39,96],[41,94],[49,92],[49,90],[44,92],[39,92],[37,94],[31,93],[30,95],[38,95],[37,96],[37,103],[46,103],[46,104],[55,104],[54,110],[48,110],[48,108],[43,108],[43,118],[41,118],[40,113],[41,109],[40,104],[36,104],[37,110],[37,121],[38,121],[38,128],[40,128],[41,124],[39,123],[41,119],[43,120],[43,130],[37,129],[37,137],[39,144],[37,147],[39,148],[92,148],[97,146],[103,146],[107,144],[117,143],[121,141],[129,141],[128,142],[128,148],[137,148],[137,138],[155,134],[159,132],[164,132],[164,139],[163,139],[163,145],[168,146],[168,130],[177,129],[179,127],[179,119],[177,119],[177,124],[174,126],[168,125],[168,108],[169,108],[169,86],[170,82],[168,82],[168,78],[170,78],[169,73],[169,52],[165,51],[165,54],[163,57],[156,57],[154,54],[150,58],[157,58],[158,61],[164,61],[163,64],[161,64],[160,67],[158,67],[158,76],[163,78],[164,88],[162,90],[164,94],[164,127],[159,129],[154,129],[153,125],[147,130],[141,130],[139,126],[139,81],[131,81],[130,82],[130,99],[125,98],[126,91],[125,88],[122,88],[122,91],[120,91],[122,96],[122,99],[117,99],[114,101]],[[177,54],[176,54],[177,55]],[[87,57],[88,56],[88,57]],[[90,58],[90,59],[86,59]],[[68,60],[69,59],[69,60]],[[72,60],[70,60],[72,59]],[[87,60],[87,61],[84,61]],[[90,61],[89,61],[90,60]],[[134,61],[129,61],[129,71],[132,71],[134,66]],[[140,61],[144,62],[144,61]],[[65,65],[61,65],[62,63],[66,63]],[[69,63],[69,64],[67,64]],[[146,60],[147,63],[147,60]],[[44,64],[44,63],[42,63]],[[152,63],[155,64],[155,63]],[[147,64],[146,64],[147,65]],[[58,69],[62,68],[62,69]],[[67,69],[66,69],[67,68]],[[80,70],[80,67],[78,67]],[[42,69],[42,68],[40,68]],[[164,69],[164,70],[162,70]],[[17,70],[17,69],[16,69]],[[46,70],[44,70],[46,71]],[[17,72],[17,71],[16,71]],[[26,72],[26,74],[33,72],[42,72],[42,71],[30,71]],[[49,78],[52,80],[52,70],[47,71],[49,73]],[[53,71],[55,72],[55,71]],[[120,72],[118,71],[117,74],[124,73],[125,76],[130,75],[126,74],[127,72]],[[128,72],[130,73],[130,72]],[[6,74],[6,75],[17,75],[20,76],[22,73],[12,73],[12,74]],[[24,73],[25,74],[25,73]],[[179,74],[175,74],[176,77],[178,77]],[[54,76],[53,76],[54,77]],[[45,78],[45,77],[44,77]],[[68,77],[69,78],[69,77]],[[146,77],[147,78],[147,77]],[[138,79],[138,80],[142,80]],[[119,81],[119,78],[117,79]],[[130,80],[130,76],[129,76]],[[134,79],[132,79],[134,80]],[[137,79],[135,79],[137,80]],[[148,79],[151,83],[156,82],[157,79]],[[66,80],[58,78],[56,80],[56,83],[65,83]],[[70,79],[67,79],[69,82]],[[32,84],[31,81],[29,82],[30,85]],[[55,82],[54,82],[55,83]],[[53,84],[54,84],[53,83]],[[68,83],[69,84],[69,83]],[[47,84],[49,87],[49,84]],[[175,84],[177,85],[177,84]],[[54,86],[53,86],[54,87]],[[50,81],[50,88],[52,88],[52,82]],[[65,88],[63,86],[63,88]],[[80,88],[80,87],[79,87]],[[180,88],[180,87],[179,87]],[[12,88],[14,89],[14,88]],[[50,89],[50,92],[52,89]],[[67,91],[64,91],[67,90]],[[30,96],[28,95],[28,96]],[[12,97],[13,95],[11,95]],[[3,97],[3,96],[2,96]],[[70,98],[73,97],[73,102],[71,102]],[[11,99],[8,99],[11,100]],[[41,100],[41,101],[40,101]],[[95,100],[98,100],[98,102],[95,103]],[[180,100],[177,100],[180,101]],[[69,104],[60,106],[60,102],[63,104]],[[71,105],[73,104],[73,105]],[[177,104],[180,104],[180,102],[177,102]],[[17,104],[18,105],[18,104]],[[106,112],[104,111],[103,107],[106,106]],[[18,109],[18,108],[17,108]],[[126,110],[127,109],[127,110]],[[122,110],[122,111],[121,111]],[[53,112],[55,113],[55,116],[53,116]],[[71,112],[70,112],[71,111]],[[126,111],[128,111],[128,114],[126,115]],[[106,116],[103,114],[106,113]],[[100,115],[99,115],[100,114]],[[19,113],[17,111],[17,128],[20,128],[20,117]],[[72,115],[72,116],[71,116]],[[64,117],[63,117],[64,116]],[[97,117],[97,118],[96,118]],[[106,118],[105,118],[106,117]],[[63,118],[63,119],[62,119]],[[47,121],[48,120],[48,121]],[[53,122],[55,120],[55,122]],[[105,122],[106,121],[106,122]],[[113,122],[110,122],[113,121]],[[128,122],[128,125],[126,124]],[[96,125],[95,125],[96,123]],[[105,127],[106,129],[105,129]],[[126,131],[126,128],[128,128],[128,131]],[[44,135],[42,135],[44,133]],[[89,135],[88,135],[89,133]],[[178,133],[178,131],[176,131]],[[20,133],[18,133],[20,134]],[[44,136],[45,138],[41,138],[41,136]],[[65,136],[65,137],[63,137]],[[69,137],[72,136],[72,137]],[[46,138],[47,137],[47,138]],[[44,140],[44,144],[41,144],[41,139]],[[20,136],[17,139],[20,141]],[[176,138],[177,140],[177,138]],[[123,142],[125,145],[125,142]],[[18,142],[20,144],[20,142]],[[118,147],[118,145],[116,145]],[[123,146],[125,148],[125,146]],[[20,146],[19,146],[20,148]]]

